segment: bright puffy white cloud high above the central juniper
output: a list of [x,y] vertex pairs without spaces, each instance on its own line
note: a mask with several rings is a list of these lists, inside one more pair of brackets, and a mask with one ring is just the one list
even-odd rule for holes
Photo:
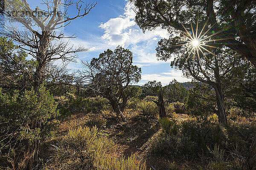
[[134,45],[138,42],[158,40],[157,37],[167,38],[169,33],[162,28],[156,28],[153,31],[143,31],[135,23],[136,13],[134,4],[127,2],[125,12],[116,18],[109,19],[106,23],[101,23],[100,28],[105,30],[103,39],[108,40],[109,45]]

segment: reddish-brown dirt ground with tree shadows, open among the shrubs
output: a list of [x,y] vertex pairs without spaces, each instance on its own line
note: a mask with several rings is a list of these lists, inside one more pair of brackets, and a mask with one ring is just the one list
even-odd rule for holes
[[[159,118],[140,115],[132,111],[124,113],[125,122],[117,122],[114,115],[104,113],[102,115],[74,114],[67,121],[61,123],[61,133],[70,128],[86,125],[86,122],[96,117],[105,120],[105,126],[101,128],[102,133],[107,134],[117,144],[113,156],[122,154],[131,156],[135,154],[138,160],[146,160],[147,169],[166,170],[168,161],[163,157],[148,157],[145,153],[147,142],[160,130]],[[189,117],[186,114],[175,114],[175,119],[182,121]]]

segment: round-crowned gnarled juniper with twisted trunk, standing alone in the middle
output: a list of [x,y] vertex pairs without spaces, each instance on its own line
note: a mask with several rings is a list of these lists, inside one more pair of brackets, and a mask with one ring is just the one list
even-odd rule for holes
[[118,46],[114,51],[108,49],[90,63],[84,63],[87,68],[85,77],[90,79],[88,88],[92,93],[108,99],[122,120],[124,117],[121,113],[128,100],[139,91],[139,88],[129,85],[141,79],[141,68],[132,65],[132,59],[131,51]]

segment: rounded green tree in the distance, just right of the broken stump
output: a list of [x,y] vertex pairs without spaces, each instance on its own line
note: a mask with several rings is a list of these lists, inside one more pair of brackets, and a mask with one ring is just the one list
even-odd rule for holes
[[167,99],[167,102],[183,102],[187,95],[187,90],[182,83],[173,80],[169,85],[163,87],[163,97]]

